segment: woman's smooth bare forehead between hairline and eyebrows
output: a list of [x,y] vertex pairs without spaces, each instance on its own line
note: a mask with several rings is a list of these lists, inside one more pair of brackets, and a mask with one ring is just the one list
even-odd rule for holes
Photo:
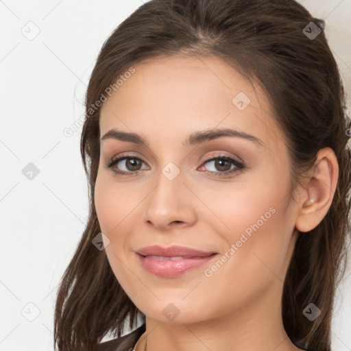
[[183,141],[191,131],[218,126],[283,139],[263,90],[219,58],[171,56],[133,68],[101,108],[101,135],[119,128]]

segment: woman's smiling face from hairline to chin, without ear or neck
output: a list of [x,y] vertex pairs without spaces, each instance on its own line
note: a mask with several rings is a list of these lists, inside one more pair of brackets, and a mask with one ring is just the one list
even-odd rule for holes
[[[218,58],[162,58],[134,69],[100,119],[101,138],[117,130],[147,143],[116,133],[101,140],[95,206],[117,280],[163,322],[280,315],[298,212],[286,138],[267,97]],[[210,137],[225,129],[234,132]],[[217,254],[141,259],[136,252],[149,245]]]

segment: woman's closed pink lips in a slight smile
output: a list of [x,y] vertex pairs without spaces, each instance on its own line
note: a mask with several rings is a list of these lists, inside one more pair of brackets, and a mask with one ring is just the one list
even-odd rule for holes
[[[160,247],[158,245],[143,247],[136,253],[144,269],[163,278],[180,276],[204,265],[217,256],[216,252],[204,252],[181,246]],[[183,258],[174,261],[170,259],[159,261],[152,256],[164,258],[182,256]]]

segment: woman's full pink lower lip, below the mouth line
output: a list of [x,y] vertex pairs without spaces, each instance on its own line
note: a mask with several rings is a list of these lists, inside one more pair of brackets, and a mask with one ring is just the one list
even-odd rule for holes
[[197,258],[184,258],[180,260],[158,261],[155,258],[149,258],[137,254],[141,265],[150,273],[162,278],[173,278],[191,271],[192,269],[201,267],[208,261],[217,257],[217,254]]

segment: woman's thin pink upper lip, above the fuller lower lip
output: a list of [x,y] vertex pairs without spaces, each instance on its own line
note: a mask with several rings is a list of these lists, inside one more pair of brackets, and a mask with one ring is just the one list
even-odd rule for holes
[[145,246],[136,251],[137,254],[142,256],[164,256],[164,257],[177,257],[177,256],[190,256],[190,257],[204,257],[212,254],[217,254],[215,251],[205,252],[192,249],[191,247],[173,245],[169,247],[162,247],[159,245]]

